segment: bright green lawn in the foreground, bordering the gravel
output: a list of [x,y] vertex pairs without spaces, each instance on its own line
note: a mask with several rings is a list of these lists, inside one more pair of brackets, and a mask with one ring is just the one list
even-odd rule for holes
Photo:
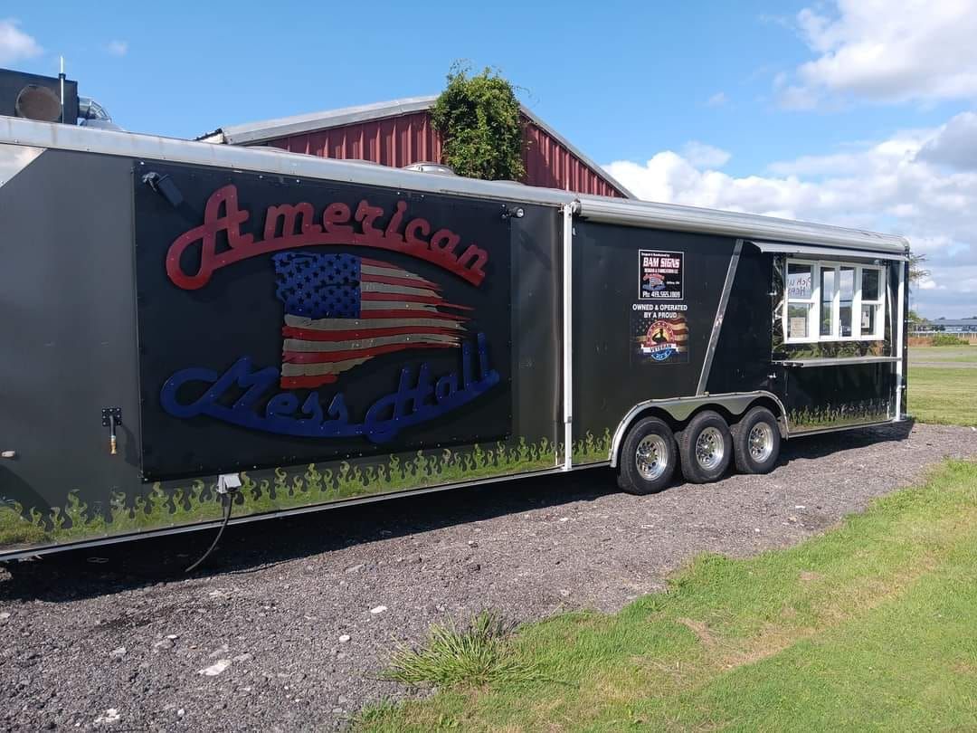
[[704,555],[616,615],[496,639],[496,659],[534,680],[454,681],[355,727],[977,730],[975,620],[977,463],[949,461],[822,537]]

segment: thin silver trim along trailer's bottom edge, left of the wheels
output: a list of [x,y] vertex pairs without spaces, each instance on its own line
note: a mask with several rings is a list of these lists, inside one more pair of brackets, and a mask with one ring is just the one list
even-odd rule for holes
[[[601,461],[599,463],[585,463],[583,465],[574,466],[574,471],[583,471],[588,468],[601,468],[606,467],[608,462]],[[402,492],[391,492],[388,494],[375,494],[373,496],[361,496],[358,498],[349,498],[341,501],[332,501],[326,504],[314,504],[312,506],[297,506],[291,509],[276,509],[275,511],[266,512],[264,514],[248,514],[242,517],[232,518],[229,524],[239,525],[239,524],[250,524],[251,522],[261,522],[268,519],[281,519],[282,517],[292,517],[299,516],[301,514],[312,514],[319,511],[328,511],[329,509],[338,509],[344,506],[357,506],[360,504],[371,504],[376,501],[386,501],[392,498],[401,498],[405,496],[415,496],[419,494],[435,494],[437,492],[452,491],[454,489],[466,489],[466,488],[476,488],[484,484],[495,484],[503,481],[519,481],[520,479],[529,478],[539,478],[543,476],[554,476],[563,473],[562,468],[543,468],[538,471],[526,471],[524,473],[513,473],[507,474],[505,476],[494,476],[488,479],[473,479],[472,481],[457,482],[454,484],[444,484],[442,486],[431,486],[425,487],[424,489],[408,489]],[[214,520],[211,522],[200,522],[196,524],[189,524],[183,527],[166,527],[159,530],[144,530],[141,532],[135,532],[125,535],[115,535],[112,537],[99,538],[99,539],[85,539],[77,542],[64,542],[63,544],[49,544],[41,547],[23,548],[17,550],[11,550],[9,552],[4,552],[0,550],[0,563],[8,562],[11,560],[20,560],[24,557],[40,557],[41,555],[51,555],[56,552],[66,552],[68,550],[86,549],[89,547],[101,547],[107,544],[118,544],[119,542],[131,542],[137,539],[151,539],[151,538],[161,538],[168,537],[170,535],[183,535],[188,532],[200,532],[202,530],[216,529],[221,524],[220,520]]]

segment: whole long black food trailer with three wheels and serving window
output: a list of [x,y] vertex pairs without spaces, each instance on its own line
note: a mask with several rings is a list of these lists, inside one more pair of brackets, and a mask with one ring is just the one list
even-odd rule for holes
[[0,180],[5,559],[905,418],[900,237],[14,117]]

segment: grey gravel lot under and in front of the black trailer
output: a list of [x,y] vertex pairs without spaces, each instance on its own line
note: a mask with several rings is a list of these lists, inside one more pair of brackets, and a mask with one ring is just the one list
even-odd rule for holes
[[[7,730],[342,727],[403,695],[397,641],[483,608],[515,620],[612,611],[705,550],[748,555],[823,531],[946,455],[972,428],[791,441],[769,476],[619,494],[610,470],[413,496],[0,570]],[[93,562],[98,560],[99,562]]]

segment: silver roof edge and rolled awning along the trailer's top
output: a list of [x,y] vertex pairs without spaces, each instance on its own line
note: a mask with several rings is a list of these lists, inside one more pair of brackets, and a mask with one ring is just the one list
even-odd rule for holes
[[909,248],[909,242],[904,237],[756,214],[622,200],[605,196],[577,195],[505,181],[479,181],[461,176],[421,173],[267,148],[198,143],[139,133],[35,122],[20,117],[0,116],[0,144],[98,152],[106,155],[167,160],[282,176],[358,182],[432,194],[458,194],[548,206],[575,204],[578,214],[584,218],[629,226],[695,231],[764,241],[846,247],[878,254],[887,252],[905,254]]

